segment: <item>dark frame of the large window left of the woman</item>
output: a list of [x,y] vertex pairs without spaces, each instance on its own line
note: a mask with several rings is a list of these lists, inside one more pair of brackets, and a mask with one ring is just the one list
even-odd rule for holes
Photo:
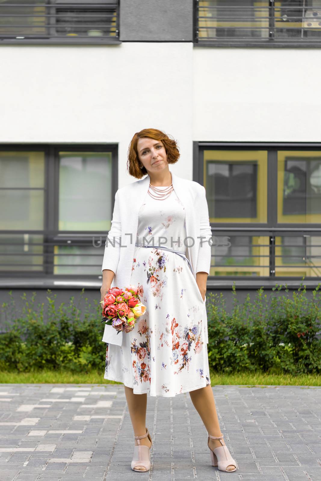
[[[44,226],[43,229],[17,229],[8,230],[0,229],[0,234],[39,234],[43,235],[43,270],[1,270],[0,278],[34,278],[34,279],[54,279],[54,280],[76,280],[79,278],[77,274],[53,274],[53,249],[54,245],[93,245],[101,240],[102,245],[97,250],[97,255],[103,259],[104,242],[108,231],[59,231],[58,230],[58,215],[59,215],[59,152],[110,152],[112,155],[112,179],[111,179],[111,215],[113,215],[115,194],[118,189],[118,144],[0,144],[0,151],[33,151],[44,152]],[[52,179],[52,180],[51,180]],[[99,197],[97,197],[99,202]],[[96,239],[98,238],[98,239]],[[86,255],[86,254],[85,254]],[[99,263],[99,265],[101,262]],[[84,274],[85,278],[97,279],[97,275]]]

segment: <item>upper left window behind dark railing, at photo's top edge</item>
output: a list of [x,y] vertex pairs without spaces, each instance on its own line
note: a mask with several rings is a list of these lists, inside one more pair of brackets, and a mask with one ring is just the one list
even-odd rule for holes
[[5,43],[120,43],[119,0],[1,0]]

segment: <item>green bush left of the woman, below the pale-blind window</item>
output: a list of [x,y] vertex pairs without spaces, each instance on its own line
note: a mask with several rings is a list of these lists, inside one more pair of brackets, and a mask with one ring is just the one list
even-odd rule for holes
[[[12,291],[9,292],[10,304],[2,304],[9,330],[0,335],[0,369],[28,372],[50,366],[53,370],[64,367],[74,372],[87,372],[103,368],[106,353],[102,343],[104,324],[100,322],[99,302],[94,300],[94,305],[88,304],[86,297],[81,313],[74,304],[74,297],[70,298],[69,305],[62,303],[56,307],[57,294],[52,296],[50,289],[47,293],[46,310],[44,303],[36,308],[36,292],[32,293],[30,301],[24,293],[21,298],[25,305],[17,316]],[[83,294],[84,289],[79,303]]]

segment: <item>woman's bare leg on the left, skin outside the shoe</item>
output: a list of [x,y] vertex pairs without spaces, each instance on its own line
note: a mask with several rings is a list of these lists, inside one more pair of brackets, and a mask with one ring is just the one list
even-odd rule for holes
[[[146,408],[147,408],[147,394],[134,394],[132,388],[124,385],[125,395],[128,405],[129,416],[134,430],[134,436],[143,436],[146,434]],[[144,446],[151,446],[148,436],[140,439]],[[137,446],[137,439],[135,439],[135,446]],[[145,471],[144,466],[136,466],[135,469]]]

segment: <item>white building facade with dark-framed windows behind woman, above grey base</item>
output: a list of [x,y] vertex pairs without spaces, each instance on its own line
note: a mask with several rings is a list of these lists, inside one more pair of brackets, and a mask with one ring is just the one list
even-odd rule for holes
[[321,1],[1,0],[0,22],[1,295],[97,296],[143,128],[176,139],[171,170],[205,186],[208,289],[315,287]]

